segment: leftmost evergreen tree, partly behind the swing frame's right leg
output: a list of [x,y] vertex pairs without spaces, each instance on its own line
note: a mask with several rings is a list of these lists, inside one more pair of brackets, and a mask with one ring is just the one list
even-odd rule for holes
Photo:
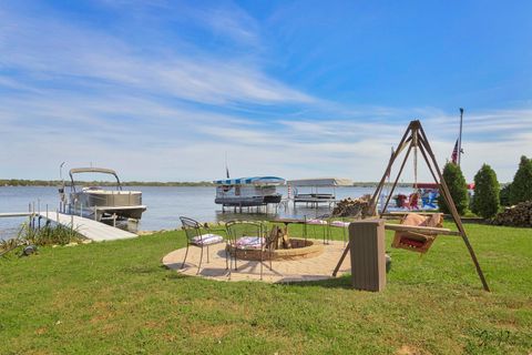
[[[452,201],[457,206],[458,213],[463,215],[468,210],[468,186],[466,184],[466,179],[463,178],[462,171],[460,166],[452,162],[448,162],[443,168],[443,179],[449,186],[449,191],[451,193]],[[443,213],[451,213],[449,206],[446,204],[443,200],[443,195],[440,192],[438,196],[438,206],[440,211]]]

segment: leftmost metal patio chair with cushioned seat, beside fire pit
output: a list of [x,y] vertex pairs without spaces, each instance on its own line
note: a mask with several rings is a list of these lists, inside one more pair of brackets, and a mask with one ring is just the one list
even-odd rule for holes
[[[186,256],[188,255],[188,246],[194,245],[197,247],[202,248],[202,253],[200,255],[200,264],[197,265],[197,272],[196,274],[200,273],[200,270],[202,267],[202,261],[203,261],[203,248],[207,248],[207,263],[209,262],[208,260],[208,246],[214,245],[214,244],[219,244],[219,243],[227,243],[227,241],[219,234],[216,234],[214,232],[224,232],[225,230],[215,230],[215,229],[208,229],[202,226],[197,221],[180,216],[181,223],[183,224],[183,230],[185,231],[186,234],[186,252],[185,252],[185,257],[183,260],[183,264],[181,264],[181,268],[185,267],[185,262],[186,262]],[[227,255],[225,255],[225,268],[228,270],[228,262],[227,262]],[[231,270],[229,270],[231,273]]]

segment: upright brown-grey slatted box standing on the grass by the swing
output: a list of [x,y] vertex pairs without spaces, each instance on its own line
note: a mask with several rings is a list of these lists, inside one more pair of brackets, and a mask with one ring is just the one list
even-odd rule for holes
[[351,280],[357,290],[382,291],[386,286],[385,221],[349,224]]

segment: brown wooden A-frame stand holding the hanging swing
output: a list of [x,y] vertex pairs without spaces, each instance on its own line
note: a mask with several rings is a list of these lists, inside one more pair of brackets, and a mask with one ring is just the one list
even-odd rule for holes
[[[399,172],[397,174],[396,180],[393,181],[393,185],[388,193],[388,197],[386,199],[386,203],[382,206],[380,216],[382,216],[383,213],[386,213],[386,210],[388,207],[388,204],[390,202],[390,199],[393,194],[393,190],[397,186],[397,183],[399,181],[399,178],[401,176],[402,170],[405,169],[405,164],[407,163],[408,156],[410,155],[410,152],[415,151],[415,160],[417,160],[417,151],[421,152],[421,155],[423,156],[427,166],[429,168],[429,171],[434,179],[434,182],[438,184],[440,194],[443,196],[443,200],[447,203],[447,206],[449,207],[451,212],[452,220],[454,221],[454,224],[457,225],[458,232],[450,231],[447,229],[431,229],[431,227],[410,227],[407,225],[386,225],[385,227],[388,230],[401,230],[401,231],[408,231],[409,229],[417,229],[419,232],[419,229],[424,230],[426,232],[436,232],[438,234],[448,234],[448,235],[460,235],[466,243],[466,246],[468,247],[469,254],[471,256],[471,260],[473,261],[474,267],[477,268],[477,273],[479,274],[480,281],[482,282],[482,286],[484,287],[485,291],[490,291],[490,287],[488,286],[488,283],[485,281],[484,274],[482,273],[482,270],[480,268],[479,261],[477,260],[477,255],[474,254],[473,247],[471,246],[471,243],[469,242],[469,239],[466,234],[466,230],[462,224],[462,220],[460,219],[460,215],[458,214],[457,206],[454,205],[454,201],[452,200],[451,193],[449,191],[449,186],[447,185],[446,180],[443,179],[443,175],[440,171],[440,168],[438,166],[438,162],[436,161],[434,153],[432,152],[432,149],[430,148],[429,140],[427,139],[427,135],[424,134],[423,128],[421,126],[421,122],[416,120],[411,121],[410,124],[408,125],[407,131],[402,135],[402,139],[396,150],[396,152],[391,155],[390,161],[388,162],[388,166],[386,168],[385,174],[382,175],[382,179],[379,182],[379,185],[377,186],[377,190],[375,191],[374,195],[371,196],[371,200],[369,202],[369,211],[372,211],[375,214],[377,214],[377,201],[379,201],[379,197],[382,193],[382,187],[385,186],[385,181],[386,176],[389,176],[389,173],[391,171],[391,166],[396,162],[397,158],[399,154],[407,149],[407,153],[405,155],[405,159],[401,163],[401,166],[399,169]],[[415,166],[417,164],[417,161],[415,162]],[[338,273],[338,270],[340,268],[340,265],[342,264],[347,252],[349,251],[349,244],[347,244],[344,253],[341,254],[341,257],[338,262],[338,265],[336,266],[332,276],[336,276]]]

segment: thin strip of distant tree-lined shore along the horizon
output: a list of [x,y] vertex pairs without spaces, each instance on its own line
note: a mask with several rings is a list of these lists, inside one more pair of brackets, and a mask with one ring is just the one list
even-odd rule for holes
[[[64,182],[65,186],[70,186],[70,181]],[[86,185],[98,185],[98,186],[114,186],[115,182],[109,181],[92,181],[83,182]],[[354,187],[375,187],[377,182],[355,182]],[[0,186],[60,186],[62,181],[60,180],[25,180],[25,179],[0,179]],[[160,182],[160,181],[124,181],[122,182],[123,186],[183,186],[183,187],[198,187],[206,186],[212,187],[216,184],[208,181],[198,181],[198,182]],[[391,183],[387,183],[391,185]],[[398,187],[411,187],[412,183],[398,183]]]

